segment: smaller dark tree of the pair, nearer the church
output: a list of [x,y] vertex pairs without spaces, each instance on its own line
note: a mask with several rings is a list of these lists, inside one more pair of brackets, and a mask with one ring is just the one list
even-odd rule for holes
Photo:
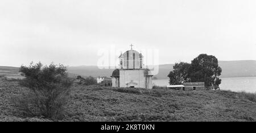
[[183,81],[188,81],[188,70],[190,64],[188,63],[175,63],[174,70],[172,70],[168,77],[170,78],[169,84],[170,85],[180,85]]

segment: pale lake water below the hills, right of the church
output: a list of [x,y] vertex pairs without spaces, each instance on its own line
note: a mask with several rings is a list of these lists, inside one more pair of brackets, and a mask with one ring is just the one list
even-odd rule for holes
[[[169,80],[153,80],[154,85],[166,86]],[[231,90],[233,92],[256,92],[256,77],[238,77],[238,78],[221,78],[221,90]]]

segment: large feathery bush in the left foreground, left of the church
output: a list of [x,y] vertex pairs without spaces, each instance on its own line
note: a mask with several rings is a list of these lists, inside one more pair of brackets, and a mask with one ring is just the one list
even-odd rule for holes
[[44,66],[41,63],[21,66],[20,72],[26,78],[19,82],[28,88],[18,99],[20,110],[44,118],[61,119],[69,97],[72,81],[67,67],[63,65]]

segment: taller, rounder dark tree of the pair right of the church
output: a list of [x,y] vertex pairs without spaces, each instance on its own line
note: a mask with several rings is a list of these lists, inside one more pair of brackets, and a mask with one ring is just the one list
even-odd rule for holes
[[214,86],[214,89],[217,89],[221,84],[221,71],[215,56],[201,54],[192,60],[188,77],[192,82],[205,82],[207,88]]

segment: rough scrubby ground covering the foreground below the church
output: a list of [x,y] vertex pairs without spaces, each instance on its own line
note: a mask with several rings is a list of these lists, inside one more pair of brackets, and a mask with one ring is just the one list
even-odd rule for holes
[[[25,88],[0,81],[0,121],[26,118],[11,102]],[[255,94],[73,85],[63,121],[255,121]]]

